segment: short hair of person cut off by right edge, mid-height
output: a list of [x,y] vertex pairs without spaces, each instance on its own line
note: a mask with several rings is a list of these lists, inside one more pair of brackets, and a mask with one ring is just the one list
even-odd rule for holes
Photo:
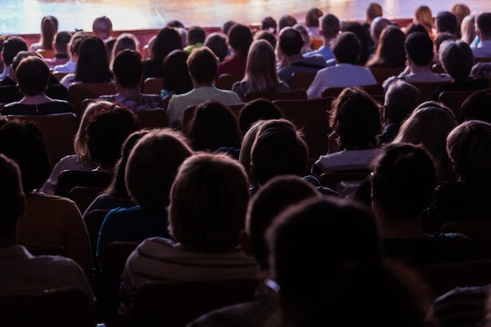
[[456,174],[466,183],[491,181],[491,124],[471,120],[458,125],[448,134],[446,151]]

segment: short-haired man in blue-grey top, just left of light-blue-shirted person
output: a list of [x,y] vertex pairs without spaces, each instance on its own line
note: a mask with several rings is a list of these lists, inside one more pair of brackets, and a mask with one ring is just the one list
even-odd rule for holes
[[319,54],[304,57],[301,53],[304,40],[302,35],[292,27],[281,30],[278,38],[278,50],[282,56],[278,77],[286,84],[290,84],[292,74],[299,72],[315,73],[326,67],[326,59]]

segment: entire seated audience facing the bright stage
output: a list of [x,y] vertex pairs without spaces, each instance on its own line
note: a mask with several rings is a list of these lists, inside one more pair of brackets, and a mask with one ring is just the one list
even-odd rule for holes
[[[0,38],[0,299],[75,287],[105,322],[105,250],[129,243],[110,313],[125,327],[147,282],[224,281],[256,294],[188,326],[431,327],[452,323],[448,305],[485,323],[488,286],[435,311],[443,292],[416,273],[491,259],[472,234],[445,231],[490,213],[491,14],[470,13],[421,5],[393,21],[373,3],[365,22],[312,8],[305,25],[268,16],[212,34],[172,21],[146,45],[107,16],[75,34],[45,16],[36,44]],[[76,111],[74,88],[93,84],[114,88]],[[459,93],[457,109],[444,103]],[[51,166],[53,140],[29,120],[74,113],[73,149]],[[145,128],[145,113],[165,122]],[[327,151],[313,158],[322,121]],[[336,173],[348,179],[335,186]],[[96,191],[82,205],[75,188]],[[474,309],[452,302],[469,293]]]

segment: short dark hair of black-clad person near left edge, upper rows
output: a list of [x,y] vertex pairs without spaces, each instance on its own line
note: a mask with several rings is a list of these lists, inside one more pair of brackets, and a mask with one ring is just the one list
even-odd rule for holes
[[25,58],[15,69],[19,89],[28,96],[45,94],[50,76],[49,66],[35,56]]

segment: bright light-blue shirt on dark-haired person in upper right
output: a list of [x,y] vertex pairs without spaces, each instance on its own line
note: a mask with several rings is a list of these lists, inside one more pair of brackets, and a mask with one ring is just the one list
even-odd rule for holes
[[316,78],[307,90],[309,99],[316,99],[328,87],[352,87],[376,84],[372,72],[356,64],[336,64],[317,72]]

